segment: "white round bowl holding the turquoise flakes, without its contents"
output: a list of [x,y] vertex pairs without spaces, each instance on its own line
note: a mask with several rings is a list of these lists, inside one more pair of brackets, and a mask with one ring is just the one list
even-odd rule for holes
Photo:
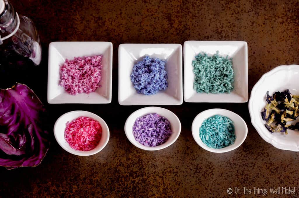
[[[213,116],[213,115],[222,115],[226,116],[231,121],[233,121],[234,127],[235,127],[235,134],[236,134],[236,140],[234,144],[231,144],[224,148],[210,148],[205,143],[202,142],[202,139],[199,137],[199,129],[202,126],[202,122],[206,120],[207,118]],[[213,153],[225,153],[231,150],[234,150],[238,148],[246,139],[247,137],[247,125],[245,121],[236,113],[232,111],[228,111],[226,109],[208,109],[201,113],[199,113],[193,120],[192,123],[192,135],[196,143],[202,147],[205,150],[208,150]]]

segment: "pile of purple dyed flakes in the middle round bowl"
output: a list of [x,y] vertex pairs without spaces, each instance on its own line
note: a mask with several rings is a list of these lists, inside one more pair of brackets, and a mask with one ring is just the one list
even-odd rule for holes
[[139,117],[133,125],[135,140],[144,146],[155,147],[163,144],[171,134],[170,122],[157,113]]

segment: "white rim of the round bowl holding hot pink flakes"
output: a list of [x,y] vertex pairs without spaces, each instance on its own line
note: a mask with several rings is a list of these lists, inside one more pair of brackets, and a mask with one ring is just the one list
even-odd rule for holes
[[[84,153],[83,153],[83,151],[76,151],[76,150],[74,150],[74,149],[70,150],[70,149],[66,148],[63,144],[61,144],[60,140],[58,140],[58,137],[57,137],[57,135],[56,135],[57,132],[55,132],[56,125],[57,125],[58,121],[59,121],[62,117],[67,116],[68,114],[72,114],[72,113],[82,113],[82,112],[85,112],[85,113],[88,113],[88,114],[90,114],[90,115],[93,115],[94,117],[97,117],[99,120],[102,121],[102,123],[104,124],[104,127],[107,129],[107,139],[106,139],[106,141],[104,142],[104,144],[103,144],[101,147],[99,147],[98,149],[95,149],[95,148],[94,148],[94,149],[92,149],[92,150],[85,151]],[[102,128],[103,128],[103,125],[102,125]],[[101,150],[103,150],[103,148],[106,147],[106,145],[107,145],[108,142],[109,142],[110,132],[109,132],[109,127],[108,127],[108,125],[106,124],[106,122],[103,120],[103,118],[101,118],[100,116],[98,116],[98,115],[96,115],[96,114],[94,114],[94,113],[91,113],[91,112],[89,112],[89,111],[80,111],[80,110],[77,110],[77,111],[70,111],[70,112],[67,112],[67,113],[61,115],[61,116],[56,120],[56,122],[55,122],[55,124],[54,124],[54,137],[55,137],[57,143],[60,145],[60,147],[62,147],[62,148],[63,148],[65,151],[67,151],[68,153],[71,153],[71,154],[74,154],[74,155],[77,155],[77,156],[91,156],[91,155],[94,155],[94,154],[96,154],[96,153],[99,153]]]

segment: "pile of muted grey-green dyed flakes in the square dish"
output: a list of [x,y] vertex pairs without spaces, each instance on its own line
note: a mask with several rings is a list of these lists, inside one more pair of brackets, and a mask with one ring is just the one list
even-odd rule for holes
[[234,70],[232,60],[200,53],[192,61],[195,74],[194,89],[197,93],[230,93],[233,89]]

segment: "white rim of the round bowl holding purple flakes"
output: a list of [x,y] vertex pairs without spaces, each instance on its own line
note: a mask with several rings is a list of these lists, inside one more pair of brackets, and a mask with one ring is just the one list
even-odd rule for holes
[[[130,131],[127,131],[126,128],[128,126],[128,120],[129,118],[133,117],[134,114],[138,113],[139,111],[142,111],[142,110],[145,110],[145,109],[160,109],[160,110],[163,110],[165,112],[169,112],[170,114],[172,114],[176,120],[178,121],[179,123],[179,129],[178,129],[178,133],[176,134],[175,138],[173,139],[173,141],[171,142],[165,142],[164,144],[161,144],[161,145],[158,145],[158,146],[155,146],[155,147],[148,147],[148,146],[144,146],[142,144],[140,144],[138,141],[132,141],[129,137],[128,137],[128,133],[131,133],[132,130]],[[147,113],[150,113],[149,111],[147,111],[144,115],[146,115]],[[137,117],[136,117],[137,118]],[[170,123],[171,124],[171,123]],[[165,108],[162,108],[162,107],[157,107],[157,106],[148,106],[148,107],[144,107],[144,108],[141,108],[141,109],[138,109],[134,112],[132,112],[129,117],[126,119],[126,123],[125,123],[125,126],[124,126],[124,130],[125,130],[125,134],[126,134],[126,137],[128,138],[128,140],[136,147],[140,148],[140,149],[143,149],[143,150],[148,150],[148,151],[153,151],[153,150],[161,150],[161,149],[164,149],[166,147],[169,147],[171,144],[173,144],[180,136],[181,134],[181,121],[179,120],[178,116],[173,113],[172,111],[168,110],[168,109],[165,109]]]

